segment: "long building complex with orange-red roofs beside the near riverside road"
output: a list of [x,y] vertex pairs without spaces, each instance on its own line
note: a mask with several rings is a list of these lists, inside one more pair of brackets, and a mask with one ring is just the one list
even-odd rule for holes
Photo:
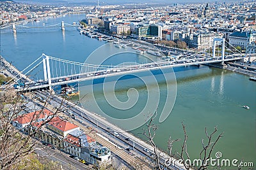
[[[62,148],[67,153],[79,157],[90,164],[109,162],[111,152],[95,139],[79,129],[79,126],[61,117],[53,117],[49,110],[35,111],[20,115],[13,120],[13,125],[27,132],[35,132],[34,138]],[[51,118],[51,120],[49,120]],[[44,120],[49,120],[47,124]],[[45,124],[45,126],[42,126]],[[28,128],[26,128],[28,127]],[[38,129],[41,127],[40,129]],[[36,131],[39,130],[39,131]]]

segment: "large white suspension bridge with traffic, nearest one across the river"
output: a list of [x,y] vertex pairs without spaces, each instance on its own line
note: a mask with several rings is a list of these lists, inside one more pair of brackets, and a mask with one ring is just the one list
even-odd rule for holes
[[[216,46],[221,45],[221,53],[216,53]],[[212,53],[207,53],[208,48],[200,52],[191,50],[186,53],[178,55],[177,60],[159,60],[157,62],[149,62],[146,64],[123,64],[118,66],[102,66],[95,64],[86,64],[81,62],[75,62],[71,60],[59,59],[45,55],[44,53],[38,57],[34,62],[29,64],[24,70],[20,71],[17,76],[12,80],[26,81],[26,85],[22,89],[17,90],[36,90],[36,89],[51,89],[56,85],[64,85],[68,83],[74,83],[78,81],[93,80],[98,78],[105,78],[107,76],[116,76],[120,74],[132,74],[143,71],[152,71],[157,69],[168,69],[170,67],[191,66],[199,64],[211,64],[220,63],[224,65],[224,62],[232,60],[243,59],[244,55],[239,51],[234,52],[229,48],[226,49],[233,52],[231,55],[225,55],[225,39],[215,38],[212,46]],[[189,55],[188,55],[189,54]],[[216,55],[217,54],[217,55]],[[221,55],[220,55],[221,54]],[[43,65],[44,80],[30,80],[32,71]],[[32,68],[31,68],[32,67]],[[31,68],[31,69],[29,69]],[[26,76],[26,78],[24,78]],[[12,80],[8,81],[10,83]],[[7,84],[6,83],[6,84]]]

